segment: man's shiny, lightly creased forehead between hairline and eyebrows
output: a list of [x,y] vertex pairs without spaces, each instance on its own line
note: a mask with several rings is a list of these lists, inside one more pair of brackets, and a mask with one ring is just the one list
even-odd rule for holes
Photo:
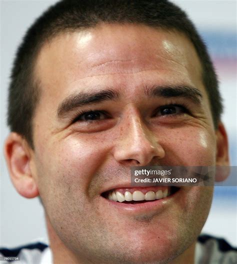
[[156,84],[198,86],[201,80],[199,59],[183,34],[133,24],[100,24],[61,33],[41,48],[35,72],[40,101],[54,102],[91,85],[122,87],[132,80],[136,86],[134,76],[144,82],[155,78]]

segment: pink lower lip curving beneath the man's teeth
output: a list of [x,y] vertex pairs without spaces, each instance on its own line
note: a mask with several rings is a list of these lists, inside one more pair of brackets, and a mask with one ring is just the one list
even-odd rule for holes
[[143,203],[123,203],[113,200],[109,200],[103,197],[103,200],[112,209],[118,209],[121,212],[127,213],[145,213],[150,211],[161,212],[166,209],[169,205],[173,204],[176,199],[180,196],[181,188],[179,188],[175,193],[158,200],[146,201]]

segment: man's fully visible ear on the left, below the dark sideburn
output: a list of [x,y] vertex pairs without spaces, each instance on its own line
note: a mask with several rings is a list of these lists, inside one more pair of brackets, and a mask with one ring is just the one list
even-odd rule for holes
[[39,194],[30,169],[32,153],[32,149],[21,135],[11,132],[7,136],[4,155],[10,178],[17,192],[26,198],[34,198]]

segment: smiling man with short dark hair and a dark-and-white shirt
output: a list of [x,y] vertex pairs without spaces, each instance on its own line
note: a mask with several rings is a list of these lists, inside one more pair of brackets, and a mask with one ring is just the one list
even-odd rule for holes
[[53,264],[234,263],[227,243],[196,247],[213,187],[130,185],[131,166],[228,165],[221,111],[205,46],[172,3],[43,13],[12,69],[4,151],[17,191],[42,201]]

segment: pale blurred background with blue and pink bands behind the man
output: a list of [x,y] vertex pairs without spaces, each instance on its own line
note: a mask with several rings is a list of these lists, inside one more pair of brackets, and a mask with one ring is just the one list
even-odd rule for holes
[[[6,127],[7,85],[16,47],[42,11],[55,0],[0,1],[0,149],[8,133]],[[198,28],[208,46],[220,81],[225,106],[231,165],[236,163],[236,1],[173,0]],[[2,153],[2,150],[1,150]],[[13,188],[3,155],[0,155],[0,246],[16,246],[29,241],[47,242],[43,209],[37,198],[21,197]],[[235,175],[236,176],[236,175]],[[208,219],[202,232],[224,237],[237,245],[236,186],[215,187]]]

